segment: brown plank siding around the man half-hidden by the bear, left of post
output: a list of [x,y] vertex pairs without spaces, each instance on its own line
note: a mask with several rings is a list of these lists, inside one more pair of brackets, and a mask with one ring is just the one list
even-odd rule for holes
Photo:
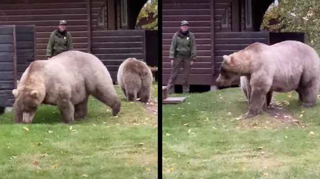
[[36,59],[46,59],[50,33],[67,21],[75,50],[88,51],[86,0],[1,0],[0,25],[35,25]]

